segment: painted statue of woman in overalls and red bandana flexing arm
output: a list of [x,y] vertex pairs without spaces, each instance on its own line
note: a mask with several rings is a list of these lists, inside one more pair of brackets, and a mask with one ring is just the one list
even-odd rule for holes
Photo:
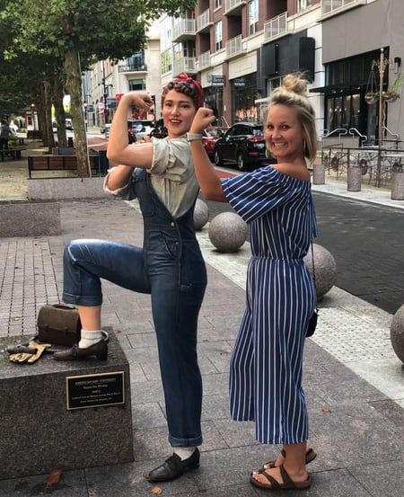
[[107,151],[110,161],[119,165],[110,169],[105,189],[125,200],[139,200],[143,247],[101,240],[75,240],[66,245],[63,300],[78,306],[83,330],[79,343],[54,357],[107,359],[108,345],[101,333],[101,279],[151,295],[173,454],[145,477],[163,482],[198,467],[202,443],[197,331],[206,266],[194,228],[199,186],[186,133],[203,104],[203,90],[181,73],[162,90],[168,137],[128,144],[128,112],[133,105],[150,111],[153,104],[147,93],[122,96]]

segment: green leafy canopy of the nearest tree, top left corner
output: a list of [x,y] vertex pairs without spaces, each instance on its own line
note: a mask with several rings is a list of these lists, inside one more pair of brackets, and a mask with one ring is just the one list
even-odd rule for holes
[[[0,19],[15,27],[5,57],[18,51],[60,57],[74,48],[81,58],[119,59],[145,43],[149,22],[175,15],[194,0],[20,0],[4,1]],[[1,3],[0,3],[1,5]]]

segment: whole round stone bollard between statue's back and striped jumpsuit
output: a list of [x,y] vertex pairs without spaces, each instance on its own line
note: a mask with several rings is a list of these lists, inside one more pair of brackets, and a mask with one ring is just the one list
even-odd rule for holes
[[219,252],[237,252],[249,235],[249,226],[234,212],[222,212],[210,222],[207,235]]

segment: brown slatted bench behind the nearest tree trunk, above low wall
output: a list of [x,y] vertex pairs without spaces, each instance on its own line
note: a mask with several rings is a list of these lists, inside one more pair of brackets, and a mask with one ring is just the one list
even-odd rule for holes
[[[90,155],[93,174],[106,173],[100,167],[100,155]],[[77,171],[77,155],[30,155],[28,157],[28,176],[34,171]]]

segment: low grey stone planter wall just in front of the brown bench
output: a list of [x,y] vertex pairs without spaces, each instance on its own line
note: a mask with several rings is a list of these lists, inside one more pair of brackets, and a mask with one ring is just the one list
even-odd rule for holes
[[30,200],[105,199],[104,178],[32,178],[28,180]]

